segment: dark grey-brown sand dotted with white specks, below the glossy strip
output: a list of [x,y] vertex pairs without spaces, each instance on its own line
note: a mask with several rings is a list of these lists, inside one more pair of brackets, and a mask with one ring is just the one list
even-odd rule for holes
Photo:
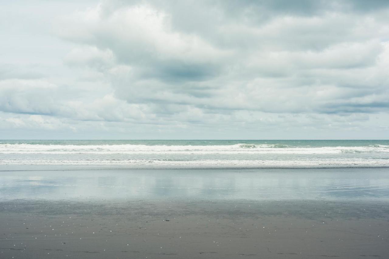
[[389,204],[0,202],[0,258],[388,258]]

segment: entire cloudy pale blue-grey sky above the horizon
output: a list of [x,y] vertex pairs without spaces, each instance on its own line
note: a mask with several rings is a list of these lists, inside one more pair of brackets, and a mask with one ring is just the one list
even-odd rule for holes
[[387,0],[0,5],[0,139],[389,139]]

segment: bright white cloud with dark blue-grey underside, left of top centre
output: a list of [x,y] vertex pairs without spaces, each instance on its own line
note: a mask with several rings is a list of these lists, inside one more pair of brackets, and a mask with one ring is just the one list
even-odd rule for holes
[[66,19],[61,36],[112,51],[119,63],[136,65],[139,77],[202,80],[216,73],[215,59],[227,54],[197,35],[173,31],[168,14],[149,5],[104,7]]

